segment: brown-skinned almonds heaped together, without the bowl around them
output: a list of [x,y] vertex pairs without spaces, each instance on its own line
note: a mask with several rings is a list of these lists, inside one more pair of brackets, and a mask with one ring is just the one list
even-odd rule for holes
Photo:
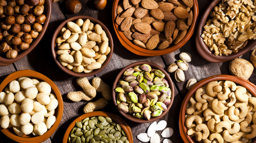
[[162,50],[180,42],[192,23],[192,0],[123,0],[116,23],[141,48]]

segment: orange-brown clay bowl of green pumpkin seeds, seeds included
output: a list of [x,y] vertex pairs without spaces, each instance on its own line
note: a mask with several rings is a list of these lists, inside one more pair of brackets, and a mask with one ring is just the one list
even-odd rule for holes
[[132,130],[119,116],[94,111],[76,118],[65,132],[63,143],[132,143]]

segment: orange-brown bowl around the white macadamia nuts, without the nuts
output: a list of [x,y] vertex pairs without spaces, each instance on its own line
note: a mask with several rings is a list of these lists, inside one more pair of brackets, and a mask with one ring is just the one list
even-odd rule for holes
[[2,129],[0,127],[0,129],[6,136],[8,136],[12,140],[20,142],[20,143],[27,143],[27,142],[39,143],[39,142],[43,142],[43,141],[47,140],[54,133],[54,131],[57,129],[57,127],[58,127],[58,125],[61,121],[62,114],[63,114],[62,96],[61,96],[61,93],[60,93],[58,87],[53,83],[53,81],[51,79],[49,79],[48,77],[46,77],[45,75],[43,75],[39,72],[31,71],[31,70],[20,70],[20,71],[15,71],[15,72],[9,74],[3,80],[3,82],[0,84],[0,91],[3,91],[5,87],[9,87],[9,83],[11,81],[16,80],[17,78],[22,77],[22,76],[27,76],[27,77],[30,77],[30,78],[36,78],[40,82],[45,81],[52,87],[52,93],[56,96],[56,98],[58,100],[58,106],[55,109],[55,114],[54,114],[54,116],[56,117],[56,121],[53,124],[53,126],[50,129],[48,129],[48,131],[46,133],[44,133],[43,135],[39,135],[39,136],[34,136],[32,134],[18,136],[14,133],[12,128]]

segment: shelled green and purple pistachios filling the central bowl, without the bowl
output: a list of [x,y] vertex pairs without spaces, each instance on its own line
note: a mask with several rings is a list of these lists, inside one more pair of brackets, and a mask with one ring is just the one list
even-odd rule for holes
[[119,111],[149,120],[167,110],[171,89],[162,71],[143,64],[127,69],[123,75],[115,88]]

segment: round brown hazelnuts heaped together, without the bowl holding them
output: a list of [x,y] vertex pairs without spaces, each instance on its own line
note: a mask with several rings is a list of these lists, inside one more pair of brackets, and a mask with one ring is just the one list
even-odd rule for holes
[[19,51],[28,49],[43,29],[43,12],[44,0],[1,0],[0,53],[13,59]]

